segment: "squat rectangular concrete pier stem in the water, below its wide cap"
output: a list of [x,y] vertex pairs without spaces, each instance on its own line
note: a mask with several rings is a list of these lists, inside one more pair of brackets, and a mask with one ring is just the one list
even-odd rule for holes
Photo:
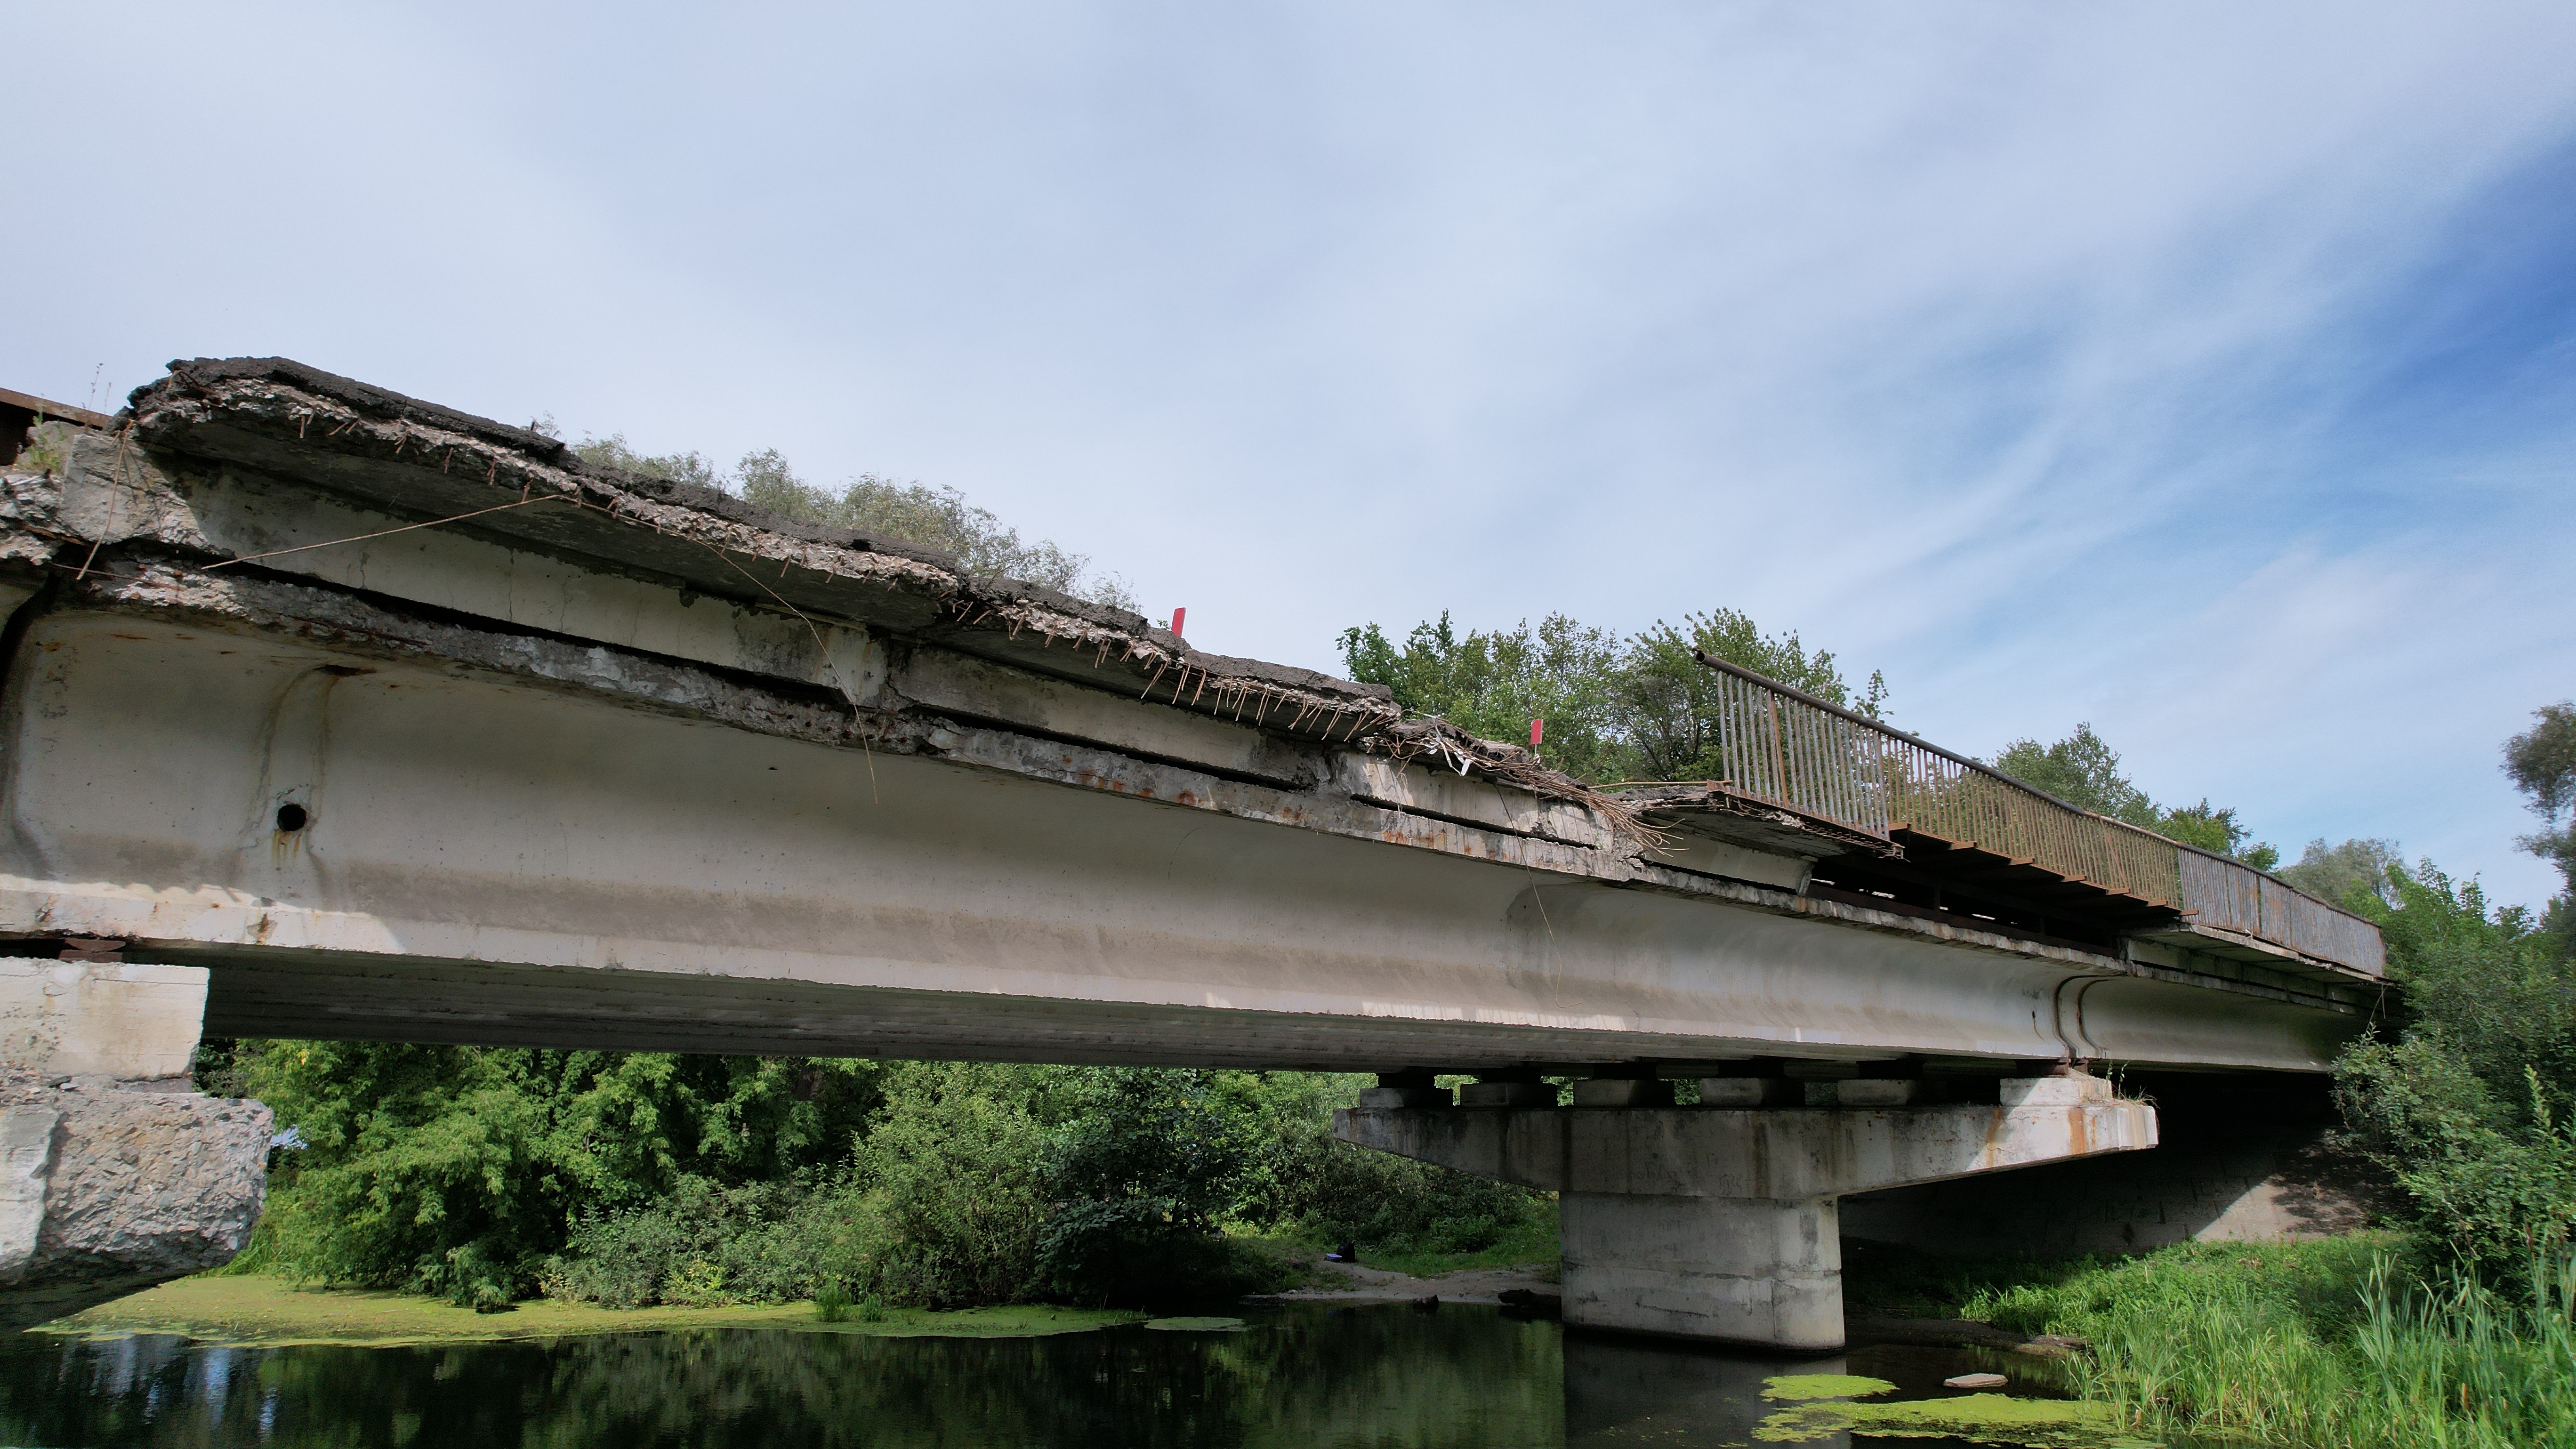
[[1842,1348],[1834,1199],[1564,1194],[1566,1323]]

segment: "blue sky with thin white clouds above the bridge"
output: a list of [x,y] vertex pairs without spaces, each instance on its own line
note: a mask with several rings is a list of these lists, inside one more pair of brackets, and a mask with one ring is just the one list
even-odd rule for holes
[[2576,10],[13,5],[0,384],[966,490],[1193,642],[1734,606],[2548,895]]

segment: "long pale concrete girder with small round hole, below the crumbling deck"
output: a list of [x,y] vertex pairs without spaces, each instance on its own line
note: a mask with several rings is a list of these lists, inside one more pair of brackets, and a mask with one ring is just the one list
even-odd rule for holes
[[209,621],[54,614],[26,650],[0,928],[209,964],[224,1034],[1466,1070],[2321,1065],[2347,1029],[1280,828],[1226,810],[1265,786],[1054,740],[1018,748],[1108,789]]

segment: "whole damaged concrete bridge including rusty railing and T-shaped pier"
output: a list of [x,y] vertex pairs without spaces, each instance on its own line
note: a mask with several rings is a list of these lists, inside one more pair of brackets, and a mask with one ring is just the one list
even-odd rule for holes
[[2362,920],[1723,665],[1728,779],[1600,794],[289,361],[93,423],[0,505],[31,1073],[198,1029],[1373,1070],[1345,1137],[1566,1194],[1569,1320],[1826,1348],[1842,1194],[2148,1147],[2087,1065],[2321,1073],[2378,990]]

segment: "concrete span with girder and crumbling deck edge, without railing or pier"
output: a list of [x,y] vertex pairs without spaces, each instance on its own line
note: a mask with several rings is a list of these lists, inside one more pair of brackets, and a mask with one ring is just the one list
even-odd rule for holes
[[[227,1034],[2318,1070],[2360,985],[1803,895],[1383,688],[276,358],[0,477],[0,938]],[[0,598],[5,601],[5,598]]]

